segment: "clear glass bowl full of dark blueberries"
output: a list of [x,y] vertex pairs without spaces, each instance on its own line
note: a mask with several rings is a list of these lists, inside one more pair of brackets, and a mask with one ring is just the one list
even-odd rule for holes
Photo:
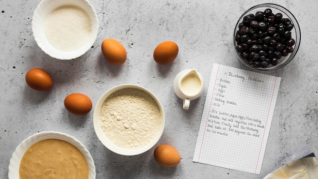
[[239,59],[248,67],[279,69],[290,63],[299,49],[299,24],[282,6],[253,6],[236,23],[234,45]]

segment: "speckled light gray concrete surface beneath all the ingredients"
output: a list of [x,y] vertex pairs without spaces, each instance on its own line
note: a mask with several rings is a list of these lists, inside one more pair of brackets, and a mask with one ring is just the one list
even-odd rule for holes
[[[26,137],[42,131],[74,136],[89,150],[96,178],[263,178],[284,163],[318,154],[318,3],[268,1],[289,9],[301,27],[301,45],[295,59],[282,69],[261,72],[281,77],[260,175],[192,162],[212,64],[245,67],[235,53],[234,26],[238,17],[264,1],[97,1],[90,0],[100,22],[93,47],[70,61],[51,58],[37,46],[31,20],[40,1],[0,1],[0,178],[8,177],[15,148]],[[105,61],[101,43],[120,41],[128,59],[122,66]],[[179,54],[173,64],[157,65],[153,50],[163,41],[175,41]],[[25,83],[31,68],[42,68],[54,80],[48,92]],[[197,69],[204,77],[204,94],[182,109],[173,79],[183,69]],[[111,87],[133,83],[152,91],[162,102],[166,127],[158,144],[177,148],[182,159],[166,168],[153,159],[153,150],[138,156],[109,151],[94,133],[93,110],[84,116],[69,113],[63,100],[83,93],[93,107]]]

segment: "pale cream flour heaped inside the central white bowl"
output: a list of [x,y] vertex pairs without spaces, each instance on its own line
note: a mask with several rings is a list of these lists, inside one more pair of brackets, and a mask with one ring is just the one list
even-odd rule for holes
[[110,95],[100,110],[106,136],[122,148],[150,143],[161,126],[161,112],[154,99],[136,88],[123,88]]

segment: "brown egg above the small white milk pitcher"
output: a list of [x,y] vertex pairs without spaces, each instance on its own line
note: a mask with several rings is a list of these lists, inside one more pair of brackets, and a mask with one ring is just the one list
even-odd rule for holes
[[160,65],[171,64],[179,52],[178,45],[172,41],[159,44],[153,51],[153,59]]

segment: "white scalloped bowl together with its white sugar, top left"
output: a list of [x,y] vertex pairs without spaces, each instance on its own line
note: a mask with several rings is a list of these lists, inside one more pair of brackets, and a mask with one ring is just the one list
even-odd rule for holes
[[56,59],[74,59],[96,41],[98,18],[87,0],[43,0],[32,19],[38,46]]

